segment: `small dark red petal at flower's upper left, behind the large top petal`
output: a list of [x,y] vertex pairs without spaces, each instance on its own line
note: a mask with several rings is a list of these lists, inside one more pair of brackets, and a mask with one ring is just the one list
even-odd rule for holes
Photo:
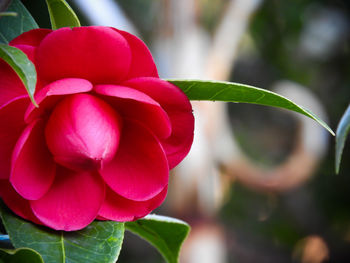
[[45,29],[45,28],[33,29],[33,30],[30,30],[30,31],[24,32],[23,34],[21,34],[18,37],[14,38],[9,43],[9,45],[11,45],[11,46],[15,46],[15,45],[29,45],[29,46],[36,47],[51,32],[52,32],[51,29]]

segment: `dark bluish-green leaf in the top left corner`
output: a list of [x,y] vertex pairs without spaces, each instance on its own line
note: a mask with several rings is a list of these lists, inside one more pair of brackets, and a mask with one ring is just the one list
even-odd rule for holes
[[15,12],[17,16],[3,16],[0,18],[0,43],[8,44],[23,32],[38,28],[38,24],[20,0],[12,0],[6,11]]

